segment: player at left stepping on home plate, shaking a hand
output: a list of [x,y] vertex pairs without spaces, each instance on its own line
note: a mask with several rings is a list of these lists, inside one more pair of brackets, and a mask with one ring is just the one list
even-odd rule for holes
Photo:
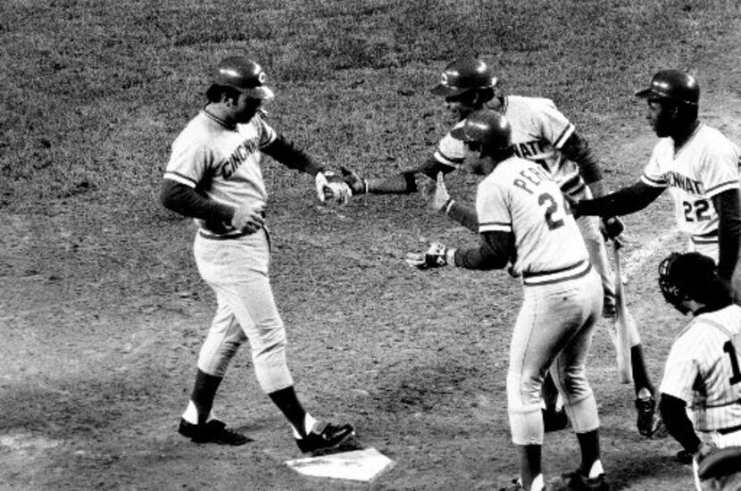
[[217,420],[216,390],[237,349],[249,341],[254,374],[279,407],[302,452],[336,447],[354,434],[349,424],[316,420],[296,397],[286,362],[286,331],[268,277],[270,238],[262,154],[314,176],[320,199],[343,201],[345,182],[272,129],[262,103],[273,97],[265,72],[242,56],[222,60],[208,103],[172,143],[162,204],[196,221],[196,265],[218,308],[198,356],[196,382],[179,424],[195,442],[243,445],[249,439]]

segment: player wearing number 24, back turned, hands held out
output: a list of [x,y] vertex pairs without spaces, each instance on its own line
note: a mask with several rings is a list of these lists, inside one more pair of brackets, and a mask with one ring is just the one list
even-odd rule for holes
[[515,154],[510,123],[480,110],[454,129],[465,142],[464,168],[486,176],[476,212],[480,244],[456,249],[433,244],[407,262],[421,269],[457,266],[502,269],[522,280],[524,300],[512,332],[507,372],[507,412],[520,455],[520,478],[511,489],[545,489],[541,470],[544,421],[540,390],[550,369],[581,447],[579,470],[564,475],[564,489],[608,489],[599,454],[595,396],[585,361],[602,312],[600,279],[589,262],[579,227],[559,185],[543,167]]

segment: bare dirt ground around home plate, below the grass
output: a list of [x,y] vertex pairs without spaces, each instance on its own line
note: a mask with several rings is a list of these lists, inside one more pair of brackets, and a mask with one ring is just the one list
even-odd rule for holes
[[[741,141],[738,100],[709,95],[703,115]],[[637,176],[654,138],[611,150]],[[608,176],[612,182],[627,180]],[[299,179],[300,180],[300,179]],[[357,443],[395,467],[373,489],[497,489],[516,474],[504,397],[520,287],[504,272],[410,270],[402,258],[437,238],[473,240],[415,196],[315,203],[312,183],[276,189],[271,278],[287,324],[298,392],[317,416],[352,421]],[[460,179],[454,191],[470,186]],[[216,410],[254,442],[195,445],[176,433],[213,297],[192,260],[189,221],[152,203],[104,206],[95,191],[0,221],[0,488],[344,489],[306,479],[279,412],[246,353]],[[125,197],[125,196],[124,196]],[[682,247],[663,199],[627,220],[629,308],[659,381],[685,320],[663,304],[655,267]],[[655,250],[654,250],[655,249]],[[617,383],[603,324],[588,375],[602,420],[604,465],[616,489],[690,487],[679,445],[635,429],[631,387]],[[545,470],[578,465],[568,431],[546,436]]]

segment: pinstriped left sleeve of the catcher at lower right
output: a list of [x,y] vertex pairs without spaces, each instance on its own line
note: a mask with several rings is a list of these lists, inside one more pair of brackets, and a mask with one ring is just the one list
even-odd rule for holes
[[687,328],[671,345],[664,365],[664,375],[659,392],[692,404],[692,386],[700,375],[699,362],[694,354],[700,353],[702,338],[693,336],[693,326]]

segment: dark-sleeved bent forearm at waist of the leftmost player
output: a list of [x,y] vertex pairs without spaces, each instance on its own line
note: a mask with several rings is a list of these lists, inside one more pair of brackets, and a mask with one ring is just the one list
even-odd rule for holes
[[234,216],[234,208],[229,204],[214,201],[171,179],[162,180],[160,202],[172,212],[204,221],[229,222]]

